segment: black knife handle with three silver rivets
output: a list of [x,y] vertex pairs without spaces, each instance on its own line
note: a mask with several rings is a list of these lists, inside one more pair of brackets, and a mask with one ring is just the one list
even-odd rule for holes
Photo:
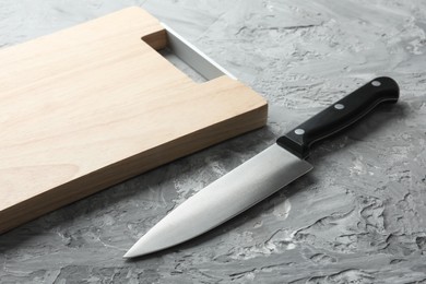
[[351,126],[380,103],[397,103],[399,96],[400,88],[393,79],[376,78],[279,138],[276,143],[296,156],[306,158],[313,142]]

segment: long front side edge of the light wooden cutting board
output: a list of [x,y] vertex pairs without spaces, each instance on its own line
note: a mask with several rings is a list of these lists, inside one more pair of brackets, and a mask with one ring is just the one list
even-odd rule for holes
[[[7,221],[0,224],[0,235],[54,210],[76,202],[99,192],[103,189],[146,173],[147,170],[193,154],[205,147],[217,144],[218,142],[235,138],[236,135],[259,129],[267,125],[267,120],[268,104],[264,100],[264,104],[250,111],[211,125],[204,129],[180,137],[175,141],[169,141],[157,147],[151,149],[150,151],[120,161],[119,163],[108,165],[95,173],[82,176],[38,196],[32,197],[0,211],[0,220]],[[170,146],[171,150],[174,150],[173,155],[162,154],[164,150],[167,150]],[[146,158],[151,161],[146,161]],[[103,182],[95,182],[98,180],[103,180]],[[91,187],[87,187],[87,185],[91,185]],[[70,193],[71,189],[73,191]],[[80,191],[75,192],[75,189],[80,189]]]

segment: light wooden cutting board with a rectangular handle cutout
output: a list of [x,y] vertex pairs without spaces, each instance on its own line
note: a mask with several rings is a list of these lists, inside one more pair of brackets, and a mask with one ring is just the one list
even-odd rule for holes
[[163,58],[166,35],[129,8],[0,50],[0,233],[265,123],[241,82]]

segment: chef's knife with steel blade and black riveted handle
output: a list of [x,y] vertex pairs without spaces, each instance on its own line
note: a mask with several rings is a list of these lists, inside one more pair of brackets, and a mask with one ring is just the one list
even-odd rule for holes
[[378,104],[397,103],[399,86],[377,78],[279,138],[276,143],[193,194],[123,256],[140,257],[197,237],[312,169],[310,145],[359,120]]

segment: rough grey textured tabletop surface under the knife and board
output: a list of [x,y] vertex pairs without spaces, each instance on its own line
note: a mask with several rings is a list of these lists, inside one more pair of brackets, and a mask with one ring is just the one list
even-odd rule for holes
[[[1,283],[426,283],[425,1],[1,0],[0,46],[132,4],[261,93],[268,127],[1,235]],[[319,143],[313,171],[192,241],[121,259],[189,196],[377,75],[401,102]]]

